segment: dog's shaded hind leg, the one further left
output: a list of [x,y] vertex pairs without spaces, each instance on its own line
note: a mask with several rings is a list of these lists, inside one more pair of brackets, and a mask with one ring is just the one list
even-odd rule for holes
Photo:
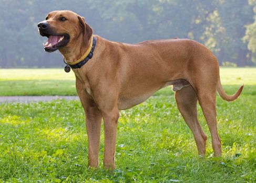
[[197,95],[193,87],[187,86],[175,92],[178,109],[191,129],[196,140],[199,156],[206,154],[207,136],[203,133],[197,118]]

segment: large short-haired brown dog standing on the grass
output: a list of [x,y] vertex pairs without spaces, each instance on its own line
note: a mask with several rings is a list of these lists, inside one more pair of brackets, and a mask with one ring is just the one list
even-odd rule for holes
[[73,72],[86,114],[90,167],[98,167],[101,119],[105,132],[104,167],[115,168],[119,110],[140,104],[168,85],[173,85],[178,109],[193,132],[199,155],[206,153],[207,136],[197,119],[197,101],[211,132],[214,154],[221,155],[216,92],[222,99],[232,101],[239,97],[243,86],[233,96],[224,93],[218,61],[202,44],[189,39],[111,42],[93,36],[93,29],[84,18],[67,10],[49,13],[38,24],[38,30],[48,37],[46,51],[59,50],[71,67],[78,65]]

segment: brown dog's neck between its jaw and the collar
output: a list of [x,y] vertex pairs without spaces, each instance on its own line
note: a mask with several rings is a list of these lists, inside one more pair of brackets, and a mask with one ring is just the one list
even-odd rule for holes
[[71,47],[66,46],[64,48],[59,49],[59,52],[63,55],[65,61],[68,64],[72,64],[76,62],[78,59],[80,59],[89,47],[89,43],[85,43],[83,37],[78,38],[71,45]]

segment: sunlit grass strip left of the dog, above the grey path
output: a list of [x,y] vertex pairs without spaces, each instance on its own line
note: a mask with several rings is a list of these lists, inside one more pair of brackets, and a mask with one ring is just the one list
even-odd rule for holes
[[0,69],[0,96],[77,95],[75,75],[60,68]]

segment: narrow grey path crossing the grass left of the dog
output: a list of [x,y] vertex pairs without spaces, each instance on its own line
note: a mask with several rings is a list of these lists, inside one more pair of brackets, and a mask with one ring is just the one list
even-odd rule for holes
[[0,96],[0,103],[5,102],[37,102],[56,99],[78,100],[78,96]]

